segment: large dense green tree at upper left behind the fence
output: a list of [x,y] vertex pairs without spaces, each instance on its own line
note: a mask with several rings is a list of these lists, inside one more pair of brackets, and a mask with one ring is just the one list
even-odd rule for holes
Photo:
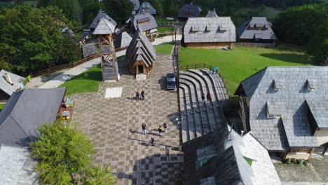
[[69,20],[57,7],[4,8],[0,22],[0,57],[17,74],[27,75],[81,58],[76,43],[60,32],[69,26]]

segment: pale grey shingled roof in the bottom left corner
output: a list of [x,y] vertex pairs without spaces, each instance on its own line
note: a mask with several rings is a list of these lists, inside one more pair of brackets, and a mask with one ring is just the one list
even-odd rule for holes
[[32,160],[25,148],[0,145],[0,184],[38,184]]

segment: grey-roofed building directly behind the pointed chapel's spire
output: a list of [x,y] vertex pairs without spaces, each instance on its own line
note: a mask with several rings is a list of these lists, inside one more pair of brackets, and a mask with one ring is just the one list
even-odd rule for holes
[[130,33],[135,33],[137,31],[137,25],[140,26],[140,29],[148,37],[148,39],[154,38],[157,35],[157,22],[153,15],[150,13],[140,13],[133,15],[130,20],[128,20],[128,27]]

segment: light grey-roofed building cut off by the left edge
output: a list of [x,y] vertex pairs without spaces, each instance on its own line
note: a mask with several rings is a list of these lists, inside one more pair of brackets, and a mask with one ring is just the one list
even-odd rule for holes
[[2,69],[0,71],[0,102],[6,102],[20,88],[22,76]]

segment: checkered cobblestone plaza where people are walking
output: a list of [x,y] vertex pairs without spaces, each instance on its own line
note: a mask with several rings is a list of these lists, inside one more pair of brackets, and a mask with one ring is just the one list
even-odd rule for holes
[[[76,101],[72,123],[90,135],[97,154],[95,164],[109,165],[118,184],[179,184],[182,180],[183,153],[178,151],[179,128],[177,93],[165,90],[166,74],[173,71],[168,55],[158,61],[145,81],[135,81],[128,66],[119,61],[121,79],[102,83],[98,93],[71,95]],[[106,88],[122,87],[119,98],[105,99]],[[144,90],[145,101],[136,101],[135,92]],[[146,123],[147,135],[141,135]],[[168,132],[157,129],[168,124]],[[154,137],[156,146],[151,146]]]

